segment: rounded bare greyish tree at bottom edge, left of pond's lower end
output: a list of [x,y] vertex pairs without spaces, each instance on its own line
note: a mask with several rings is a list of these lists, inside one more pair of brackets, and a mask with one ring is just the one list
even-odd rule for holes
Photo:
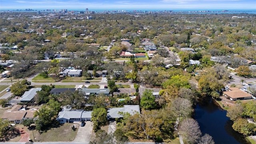
[[202,134],[198,122],[193,118],[186,118],[183,120],[178,127],[178,131],[184,136],[189,144],[198,142]]

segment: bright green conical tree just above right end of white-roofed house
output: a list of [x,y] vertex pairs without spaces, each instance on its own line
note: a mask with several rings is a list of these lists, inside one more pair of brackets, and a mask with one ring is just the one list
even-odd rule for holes
[[141,96],[140,106],[145,110],[152,110],[157,107],[156,98],[152,93],[152,90],[145,90]]

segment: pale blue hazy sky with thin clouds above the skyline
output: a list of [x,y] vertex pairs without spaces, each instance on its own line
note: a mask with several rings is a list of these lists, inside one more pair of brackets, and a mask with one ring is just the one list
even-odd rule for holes
[[256,0],[0,0],[6,9],[256,10]]

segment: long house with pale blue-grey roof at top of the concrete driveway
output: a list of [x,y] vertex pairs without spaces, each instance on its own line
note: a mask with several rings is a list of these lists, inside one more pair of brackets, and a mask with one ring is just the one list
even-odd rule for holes
[[65,106],[59,112],[57,121],[60,123],[75,122],[75,121],[90,121],[92,118],[92,111],[72,110],[71,106]]

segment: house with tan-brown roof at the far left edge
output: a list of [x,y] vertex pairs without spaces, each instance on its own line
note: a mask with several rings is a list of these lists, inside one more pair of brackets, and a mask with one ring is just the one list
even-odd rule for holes
[[4,114],[2,115],[2,119],[9,120],[10,123],[13,124],[19,124],[21,123],[24,119],[34,118],[34,112],[36,112],[37,109],[31,108],[27,110],[27,106],[22,106],[22,105],[16,105],[12,107],[10,110],[6,110]]

